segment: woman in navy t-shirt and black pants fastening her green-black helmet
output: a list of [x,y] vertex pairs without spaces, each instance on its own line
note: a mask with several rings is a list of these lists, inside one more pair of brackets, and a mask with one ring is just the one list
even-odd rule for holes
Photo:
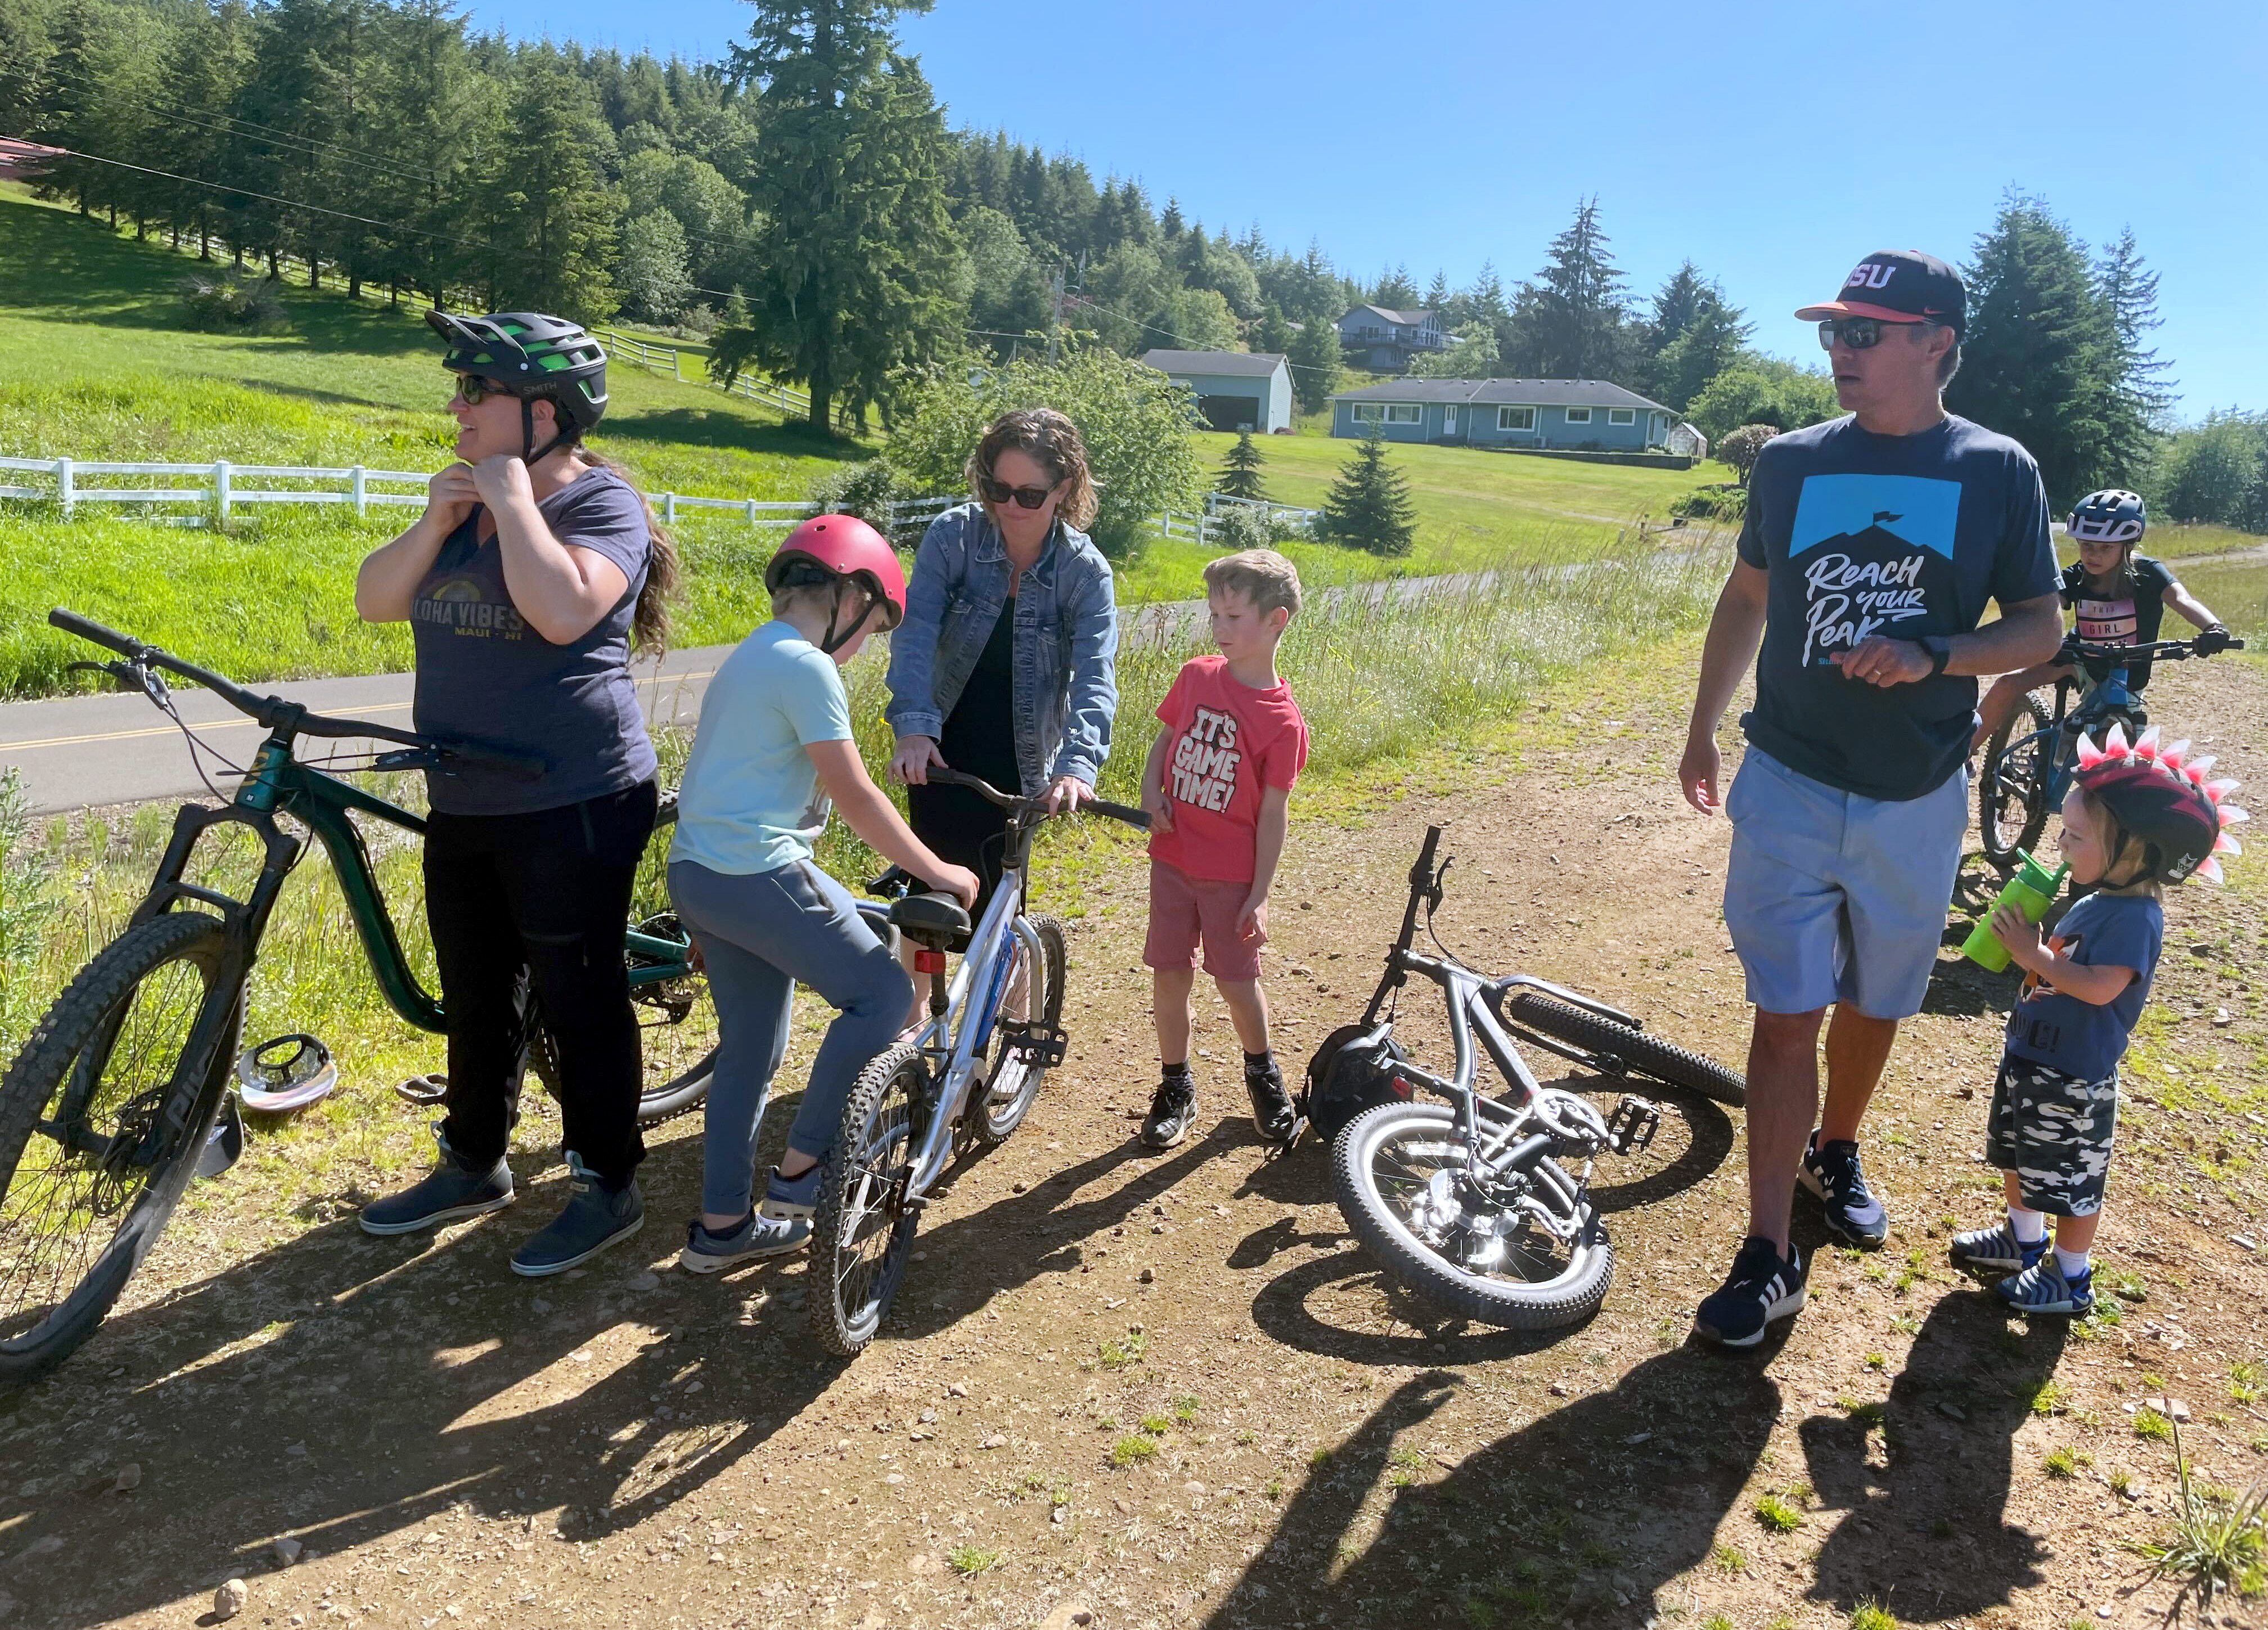
[[558,1045],[567,1208],[513,1272],[574,1267],[644,1220],[635,1170],[637,1020],[621,961],[653,832],[653,744],[631,644],[660,648],[676,553],[646,501],[583,447],[606,351],[572,322],[426,313],[456,376],[456,462],[417,524],[354,583],[367,621],[408,621],[424,735],[540,762],[426,775],[426,923],[449,1016],[449,1097],[431,1177],[363,1211],[411,1233],[513,1202],[506,1165],[533,986]]

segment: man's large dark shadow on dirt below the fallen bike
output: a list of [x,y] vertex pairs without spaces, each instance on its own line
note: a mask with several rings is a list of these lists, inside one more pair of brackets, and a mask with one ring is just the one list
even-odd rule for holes
[[[1708,1557],[1780,1412],[1760,1367],[1672,1351],[1438,1478],[1395,1440],[1458,1381],[1433,1369],[1397,1387],[1309,1474],[1207,1623],[1649,1621],[1653,1594]],[[1383,1521],[1356,1537],[1381,1483]]]

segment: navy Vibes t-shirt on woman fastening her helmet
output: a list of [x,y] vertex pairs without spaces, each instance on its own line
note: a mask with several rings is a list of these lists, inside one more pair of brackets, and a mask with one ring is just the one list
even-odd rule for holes
[[411,603],[417,732],[547,766],[535,780],[476,764],[429,773],[426,796],[449,814],[558,809],[655,773],[631,685],[631,614],[653,549],[646,501],[615,472],[592,469],[535,508],[553,537],[612,560],[631,583],[590,633],[556,646],[513,605],[497,540],[479,542],[481,506],[449,533]]

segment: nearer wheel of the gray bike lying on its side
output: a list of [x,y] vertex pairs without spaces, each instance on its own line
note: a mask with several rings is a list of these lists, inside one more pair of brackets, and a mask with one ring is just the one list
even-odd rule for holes
[[1470,1152],[1447,1104],[1379,1104],[1331,1145],[1338,1208],[1402,1288],[1508,1331],[1581,1324],[1615,1279],[1615,1247],[1574,1179],[1538,1161],[1529,1192],[1567,1229],[1533,1213],[1474,1204]]

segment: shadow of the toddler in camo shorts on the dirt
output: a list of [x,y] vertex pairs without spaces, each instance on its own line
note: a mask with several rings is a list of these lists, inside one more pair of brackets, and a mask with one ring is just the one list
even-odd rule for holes
[[2007,1492],[2014,1435],[2066,1335],[2064,1322],[2025,1326],[1996,1297],[1955,1290],[1930,1308],[1880,1426],[1803,1421],[1812,1489],[1844,1512],[1819,1553],[1814,1601],[1846,1612],[1873,1596],[1901,1619],[1937,1623],[2041,1582],[2046,1542],[2007,1526]]

